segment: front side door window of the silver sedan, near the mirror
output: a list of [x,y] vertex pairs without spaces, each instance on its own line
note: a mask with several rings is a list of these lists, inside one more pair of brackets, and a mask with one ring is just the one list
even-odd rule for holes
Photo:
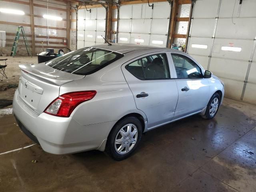
[[202,78],[200,67],[190,58],[181,54],[172,54],[177,78]]

